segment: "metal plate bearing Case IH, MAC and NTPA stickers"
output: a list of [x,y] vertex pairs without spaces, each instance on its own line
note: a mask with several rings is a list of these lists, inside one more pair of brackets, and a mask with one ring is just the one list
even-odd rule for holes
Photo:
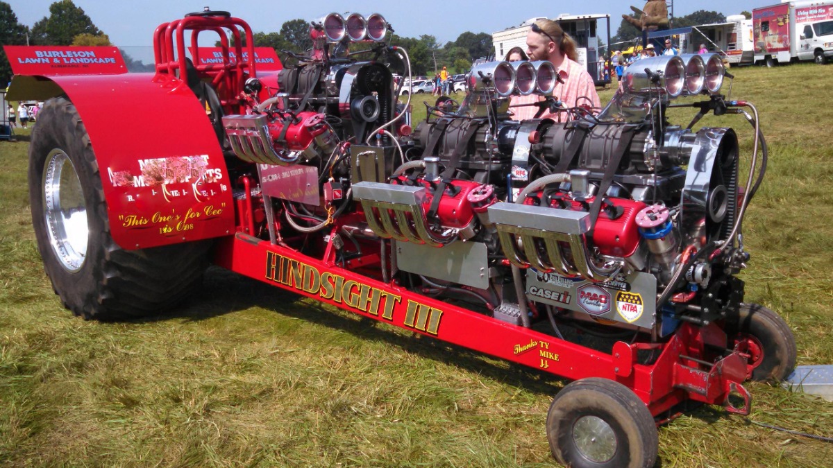
[[526,271],[526,297],[596,318],[651,328],[656,323],[656,278],[637,271],[593,283],[555,273]]

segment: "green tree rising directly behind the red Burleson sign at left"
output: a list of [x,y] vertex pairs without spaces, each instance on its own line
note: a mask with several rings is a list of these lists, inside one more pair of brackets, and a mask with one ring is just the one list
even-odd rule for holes
[[100,36],[102,32],[72,0],[52,3],[49,6],[49,16],[32,26],[33,42],[45,46],[71,45],[78,34]]

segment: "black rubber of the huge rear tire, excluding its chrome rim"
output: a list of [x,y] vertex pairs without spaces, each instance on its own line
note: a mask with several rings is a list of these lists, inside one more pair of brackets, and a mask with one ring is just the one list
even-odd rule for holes
[[[55,258],[42,214],[43,166],[54,148],[62,149],[72,161],[87,206],[90,236],[77,273],[65,270]],[[44,270],[62,304],[78,316],[112,321],[157,314],[176,306],[202,282],[211,241],[133,251],[113,241],[92,143],[77,109],[65,97],[47,101],[32,129],[29,198]]]

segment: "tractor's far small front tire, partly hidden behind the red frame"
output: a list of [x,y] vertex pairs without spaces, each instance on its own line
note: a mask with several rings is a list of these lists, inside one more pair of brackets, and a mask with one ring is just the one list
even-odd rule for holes
[[796,337],[776,312],[758,304],[744,304],[739,311],[738,335],[731,337],[730,345],[740,337],[751,339],[760,349],[761,356],[752,362],[753,381],[783,381],[796,367]]

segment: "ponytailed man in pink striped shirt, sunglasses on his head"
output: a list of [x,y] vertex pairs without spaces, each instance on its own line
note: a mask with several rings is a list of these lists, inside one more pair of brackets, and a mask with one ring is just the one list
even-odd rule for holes
[[[561,29],[557,22],[542,19],[532,23],[530,32],[526,34],[527,54],[530,60],[549,60],[555,65],[563,83],[559,82],[553,94],[558,97],[567,108],[576,106],[601,107],[599,95],[596,93],[596,83],[590,73],[581,63],[576,62],[576,41]],[[541,97],[530,96],[512,97],[511,104],[529,104],[538,102]],[[516,120],[526,120],[535,117],[538,112],[536,106],[512,107]],[[597,111],[596,111],[597,112]],[[545,111],[541,117],[548,117],[556,122],[567,119],[566,112],[551,114]]]

